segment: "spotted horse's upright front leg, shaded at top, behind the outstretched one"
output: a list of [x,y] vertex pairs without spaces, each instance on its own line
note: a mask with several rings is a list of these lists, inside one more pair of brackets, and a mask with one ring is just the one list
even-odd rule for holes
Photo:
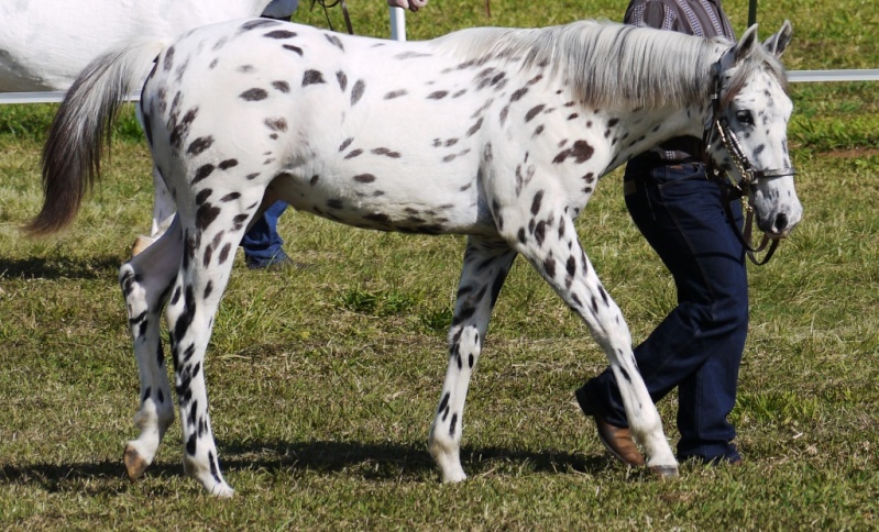
[[460,458],[464,400],[492,309],[514,258],[516,252],[503,241],[485,241],[475,236],[468,241],[454,317],[449,330],[449,368],[428,441],[430,454],[446,483],[466,478]]

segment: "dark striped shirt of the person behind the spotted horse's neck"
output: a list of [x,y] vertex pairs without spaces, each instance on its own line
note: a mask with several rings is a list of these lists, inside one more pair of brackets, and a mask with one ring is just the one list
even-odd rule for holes
[[[700,37],[722,35],[736,40],[721,0],[631,0],[624,22]],[[699,157],[699,144],[694,137],[682,136],[660,144],[648,154],[669,162],[691,160]]]

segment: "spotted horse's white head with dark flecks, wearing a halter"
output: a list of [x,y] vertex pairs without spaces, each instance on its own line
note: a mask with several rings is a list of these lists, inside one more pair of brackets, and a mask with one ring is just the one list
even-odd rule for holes
[[757,226],[769,237],[787,236],[802,218],[788,154],[793,104],[778,57],[791,37],[790,22],[765,43],[757,25],[745,32],[714,66],[713,110],[705,151],[748,195]]

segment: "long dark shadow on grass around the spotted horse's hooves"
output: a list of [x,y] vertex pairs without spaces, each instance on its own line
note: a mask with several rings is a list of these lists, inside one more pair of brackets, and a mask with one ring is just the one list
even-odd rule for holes
[[[352,473],[369,481],[435,481],[439,472],[425,445],[363,444],[354,442],[315,441],[301,443],[254,442],[220,446],[221,466],[227,473],[262,472],[270,475]],[[498,466],[506,469],[527,468],[534,473],[597,475],[615,467],[604,456],[582,456],[556,450],[510,451],[502,447],[462,447],[462,465],[473,477],[491,476]],[[47,492],[70,489],[91,495],[121,494],[124,477],[121,457],[76,464],[0,465],[0,485],[35,485]],[[149,477],[183,477],[178,463],[157,461],[146,472]],[[122,485],[123,486],[123,485]],[[195,486],[195,485],[194,485]]]

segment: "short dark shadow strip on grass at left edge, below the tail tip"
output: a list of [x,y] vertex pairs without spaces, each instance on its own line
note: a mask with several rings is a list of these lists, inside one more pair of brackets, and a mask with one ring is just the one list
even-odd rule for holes
[[96,257],[0,257],[0,277],[7,279],[98,279],[116,276],[124,259],[119,255]]

